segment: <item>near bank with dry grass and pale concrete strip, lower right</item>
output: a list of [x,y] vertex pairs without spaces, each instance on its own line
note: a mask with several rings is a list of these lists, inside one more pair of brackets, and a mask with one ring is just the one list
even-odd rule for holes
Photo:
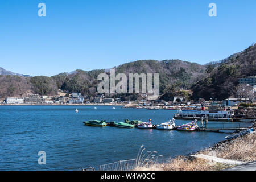
[[220,171],[254,168],[256,170],[256,133],[232,140],[217,142],[208,148],[178,155],[163,163],[146,163],[137,166],[137,171]]

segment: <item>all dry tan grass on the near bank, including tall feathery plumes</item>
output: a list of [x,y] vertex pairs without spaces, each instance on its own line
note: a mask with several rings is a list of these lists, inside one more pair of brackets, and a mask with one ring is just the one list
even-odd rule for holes
[[[142,148],[137,156],[138,162],[135,168],[137,171],[218,171],[233,167],[228,164],[215,163],[198,158],[192,159],[185,156],[177,156],[165,163],[157,163],[158,158],[155,155],[152,156],[151,152],[148,155],[143,155],[144,148]],[[256,134],[252,133],[226,141],[216,145],[214,148],[197,152],[197,154],[213,155],[218,158],[246,162],[256,160]]]

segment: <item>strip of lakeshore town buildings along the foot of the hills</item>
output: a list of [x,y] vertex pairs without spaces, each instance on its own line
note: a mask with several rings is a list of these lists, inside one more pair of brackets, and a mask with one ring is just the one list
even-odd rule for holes
[[204,99],[199,99],[197,102],[195,100],[187,101],[183,96],[174,96],[171,101],[163,100],[147,100],[147,94],[142,94],[143,100],[137,101],[122,101],[121,98],[106,98],[104,94],[100,94],[93,98],[92,101],[87,99],[87,96],[82,96],[81,93],[71,93],[63,92],[59,90],[57,96],[39,96],[38,94],[30,94],[27,97],[6,97],[5,100],[0,100],[1,105],[121,105],[124,107],[137,108],[137,109],[181,109],[181,108],[201,108],[203,103],[205,108],[218,109],[218,108],[231,108],[236,109],[240,103],[256,102],[256,76],[250,76],[245,78],[240,78],[238,80],[239,84],[245,86],[252,86],[254,98],[251,101],[250,98],[246,98],[244,95],[237,95],[236,98],[226,98],[222,101],[214,101],[210,99],[205,101]]

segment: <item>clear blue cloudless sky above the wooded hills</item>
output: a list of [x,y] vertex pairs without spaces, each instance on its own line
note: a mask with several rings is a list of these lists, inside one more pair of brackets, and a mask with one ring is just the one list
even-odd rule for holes
[[142,59],[205,64],[256,42],[255,10],[255,0],[1,0],[0,67],[53,76]]

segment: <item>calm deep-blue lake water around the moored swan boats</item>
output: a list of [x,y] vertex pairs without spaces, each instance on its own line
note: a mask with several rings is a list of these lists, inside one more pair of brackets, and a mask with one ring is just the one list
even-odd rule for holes
[[[228,133],[180,132],[84,126],[89,119],[139,119],[158,124],[175,110],[122,109],[116,106],[0,106],[0,170],[79,170],[135,159],[143,144],[163,159],[201,150]],[[75,113],[75,109],[79,113]],[[176,125],[188,121],[176,120]],[[222,122],[210,122],[212,125]],[[249,123],[242,123],[247,126]],[[38,152],[46,152],[46,165]]]

